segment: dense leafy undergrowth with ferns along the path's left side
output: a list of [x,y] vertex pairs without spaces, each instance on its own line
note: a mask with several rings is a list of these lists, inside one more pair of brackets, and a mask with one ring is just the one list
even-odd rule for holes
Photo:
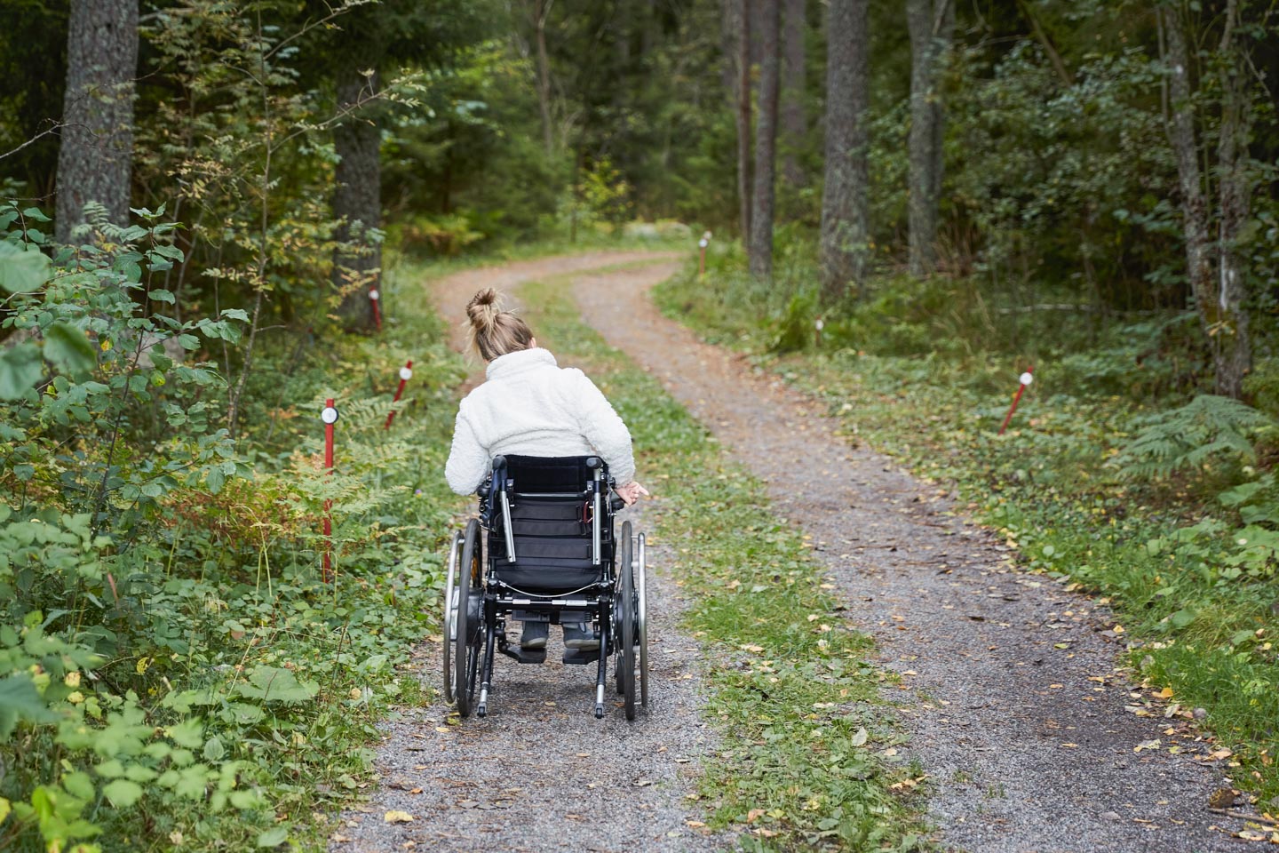
[[233,441],[219,367],[242,321],[138,320],[139,294],[169,298],[155,221],[4,281],[54,375],[0,404],[0,849],[321,845],[376,721],[421,691],[402,664],[458,508],[444,327],[405,309],[377,338],[262,335]]

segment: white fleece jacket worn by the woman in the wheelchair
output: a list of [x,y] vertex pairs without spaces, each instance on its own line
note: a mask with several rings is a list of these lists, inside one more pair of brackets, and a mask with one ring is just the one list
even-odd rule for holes
[[469,495],[489,476],[492,458],[597,454],[619,486],[634,478],[631,432],[586,373],[560,368],[542,349],[522,349],[489,362],[487,381],[467,394],[453,427],[444,476]]

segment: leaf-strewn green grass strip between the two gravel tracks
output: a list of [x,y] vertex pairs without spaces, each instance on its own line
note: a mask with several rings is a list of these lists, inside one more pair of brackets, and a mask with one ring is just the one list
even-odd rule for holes
[[[706,648],[707,714],[723,737],[698,798],[711,826],[749,830],[748,849],[917,849],[913,769],[879,698],[888,675],[871,641],[847,628],[821,568],[775,517],[766,489],[648,373],[583,326],[565,281],[524,285],[538,341],[581,366],[631,427],[637,474],[660,497],[650,535],[678,555],[663,567],[692,606]],[[661,725],[660,716],[647,725]],[[898,785],[898,789],[893,789]]]

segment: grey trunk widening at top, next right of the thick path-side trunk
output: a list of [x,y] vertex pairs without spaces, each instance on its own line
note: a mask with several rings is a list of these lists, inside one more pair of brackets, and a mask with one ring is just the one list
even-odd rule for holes
[[941,60],[954,31],[953,0],[907,0],[911,33],[909,265],[930,275],[936,265],[938,201],[941,196]]

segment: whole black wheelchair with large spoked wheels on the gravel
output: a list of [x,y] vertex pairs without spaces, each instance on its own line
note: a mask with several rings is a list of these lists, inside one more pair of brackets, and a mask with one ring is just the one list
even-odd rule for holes
[[[449,547],[444,590],[444,696],[462,717],[489,714],[495,652],[541,664],[546,650],[506,638],[510,622],[586,623],[599,650],[568,650],[565,664],[596,664],[595,717],[604,717],[608,660],[627,720],[648,707],[645,535],[614,531],[624,501],[599,457],[495,457],[477,490],[480,517]],[[477,693],[478,691],[478,700]]]

